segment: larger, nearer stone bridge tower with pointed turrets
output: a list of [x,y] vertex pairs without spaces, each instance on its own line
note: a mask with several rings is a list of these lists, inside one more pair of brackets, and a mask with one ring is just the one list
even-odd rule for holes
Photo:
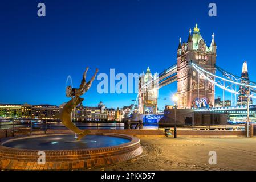
[[178,108],[214,107],[214,85],[193,69],[191,61],[215,75],[216,48],[214,34],[208,47],[197,24],[193,35],[191,29],[189,30],[186,43],[181,43],[180,38],[177,49]]

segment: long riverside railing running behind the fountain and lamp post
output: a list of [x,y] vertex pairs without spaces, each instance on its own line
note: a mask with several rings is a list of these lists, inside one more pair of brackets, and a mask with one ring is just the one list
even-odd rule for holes
[[[80,122],[76,121],[76,126],[80,129],[94,129],[94,130],[124,130],[127,129],[125,127],[124,122],[102,122],[102,121],[87,121],[87,122]],[[166,129],[166,128],[173,128],[174,125],[164,125],[159,126],[159,123],[155,125],[151,125],[150,123],[143,123],[137,127],[137,129]],[[29,133],[32,134],[33,131],[44,131],[47,133],[48,129],[51,130],[62,130],[67,129],[60,121],[46,119],[17,119],[17,118],[9,118],[3,119],[0,118],[0,130],[2,129],[10,129],[11,133],[14,135],[15,132],[21,132],[24,130],[29,130]],[[238,124],[238,125],[183,125],[178,126],[178,130],[238,130],[238,131],[245,131],[245,124]]]

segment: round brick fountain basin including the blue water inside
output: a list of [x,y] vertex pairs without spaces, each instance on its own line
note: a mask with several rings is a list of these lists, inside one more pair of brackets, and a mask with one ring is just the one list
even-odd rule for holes
[[[136,137],[92,133],[74,142],[74,134],[46,134],[7,138],[0,143],[0,168],[18,170],[74,170],[103,167],[140,155]],[[46,163],[38,163],[44,151]]]

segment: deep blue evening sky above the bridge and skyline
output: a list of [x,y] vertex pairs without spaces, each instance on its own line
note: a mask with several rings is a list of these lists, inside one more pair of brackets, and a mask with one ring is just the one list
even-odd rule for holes
[[[39,2],[46,4],[44,18],[37,16]],[[208,16],[210,2],[217,4],[217,17]],[[255,9],[254,0],[2,0],[0,102],[62,104],[67,76],[78,87],[87,66],[87,80],[96,67],[108,75],[110,68],[128,75],[148,66],[160,73],[176,63],[178,39],[186,42],[196,23],[208,45],[216,35],[217,65],[240,75],[246,60],[255,81]],[[136,98],[99,94],[99,82],[84,94],[84,105],[103,101],[116,108]],[[159,109],[172,104],[176,87],[160,89]]]

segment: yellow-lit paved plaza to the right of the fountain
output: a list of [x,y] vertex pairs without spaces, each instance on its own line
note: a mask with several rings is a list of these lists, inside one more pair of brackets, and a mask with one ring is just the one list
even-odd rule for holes
[[[91,170],[255,170],[256,138],[137,136],[143,154],[124,163]],[[210,165],[209,151],[217,152]]]

